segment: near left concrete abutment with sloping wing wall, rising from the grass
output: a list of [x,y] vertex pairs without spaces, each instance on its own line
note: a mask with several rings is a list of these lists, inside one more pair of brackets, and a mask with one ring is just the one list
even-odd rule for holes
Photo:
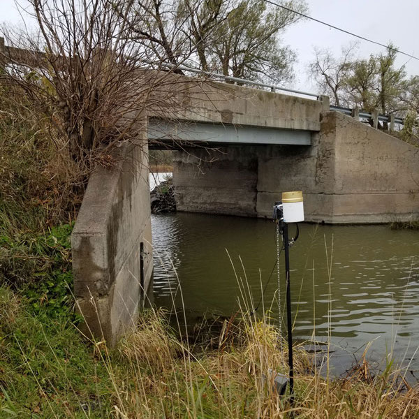
[[147,141],[122,145],[115,157],[115,168],[91,175],[72,235],[85,332],[111,345],[135,324],[153,268]]

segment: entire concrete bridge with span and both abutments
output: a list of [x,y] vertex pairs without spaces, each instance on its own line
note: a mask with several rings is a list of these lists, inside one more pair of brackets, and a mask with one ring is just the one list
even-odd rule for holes
[[419,218],[419,149],[311,100],[208,82],[163,118],[147,116],[121,164],[91,176],[73,230],[78,307],[111,344],[135,324],[152,277],[147,142],[179,145],[180,211],[272,216],[282,191],[302,190],[307,221]]

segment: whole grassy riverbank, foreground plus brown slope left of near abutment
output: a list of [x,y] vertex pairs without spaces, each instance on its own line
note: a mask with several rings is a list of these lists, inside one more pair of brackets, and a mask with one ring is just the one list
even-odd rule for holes
[[[288,370],[286,345],[278,344],[269,317],[256,321],[239,312],[240,326],[226,320],[211,340],[201,325],[194,335],[198,346],[183,328],[170,328],[159,309],[142,312],[116,348],[82,335],[69,240],[73,204],[82,193],[66,195],[78,197],[68,198],[71,205],[62,197],[52,200],[62,184],[50,191],[50,172],[39,163],[50,167],[50,161],[34,158],[27,148],[22,161],[13,159],[22,154],[5,154],[10,164],[2,179],[8,182],[0,184],[0,418],[250,419],[291,418],[291,411],[297,418],[414,417],[418,390],[404,383],[404,372],[392,369],[390,360],[385,373],[374,377],[366,354],[361,368],[333,378],[329,358],[309,355],[300,345],[292,407],[288,395],[263,384],[269,369]],[[212,230],[200,223],[196,237],[203,233],[211,244]],[[194,244],[191,257],[197,244],[202,247]],[[194,279],[202,285],[200,275]],[[214,287],[214,281],[208,284]]]

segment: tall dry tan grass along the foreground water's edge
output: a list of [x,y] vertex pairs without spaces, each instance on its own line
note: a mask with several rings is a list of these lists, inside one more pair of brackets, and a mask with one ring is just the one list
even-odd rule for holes
[[[295,405],[273,389],[270,369],[287,374],[286,348],[266,319],[244,315],[227,345],[192,353],[149,311],[142,325],[124,339],[119,353],[131,374],[115,377],[119,418],[416,418],[419,388],[388,362],[381,374],[369,367],[367,351],[345,378],[325,374],[328,360],[295,345]],[[224,330],[228,328],[228,321]],[[222,341],[226,336],[221,335]],[[145,351],[149,350],[148,353]],[[325,357],[328,355],[325,354]],[[267,381],[270,383],[267,383]],[[122,381],[121,381],[122,380]]]

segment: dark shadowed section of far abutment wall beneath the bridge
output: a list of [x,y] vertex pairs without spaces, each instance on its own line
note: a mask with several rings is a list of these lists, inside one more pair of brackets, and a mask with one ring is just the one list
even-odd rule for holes
[[258,157],[254,148],[174,152],[177,210],[256,216]]

